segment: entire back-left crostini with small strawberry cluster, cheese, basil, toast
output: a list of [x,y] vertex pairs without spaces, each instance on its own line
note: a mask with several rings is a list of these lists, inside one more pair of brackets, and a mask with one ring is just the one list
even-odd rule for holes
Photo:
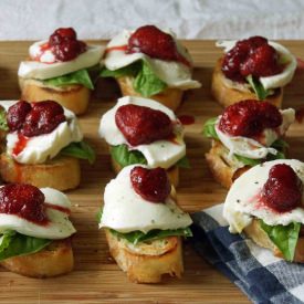
[[103,46],[77,40],[72,28],[55,30],[49,40],[32,44],[30,60],[20,64],[22,98],[56,101],[75,114],[83,114],[94,88],[92,77],[101,70],[103,51]]

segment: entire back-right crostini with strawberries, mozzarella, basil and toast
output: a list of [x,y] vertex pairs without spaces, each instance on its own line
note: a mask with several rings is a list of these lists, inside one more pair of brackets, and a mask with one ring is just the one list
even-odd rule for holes
[[296,59],[283,45],[262,36],[220,41],[224,48],[213,72],[214,98],[229,106],[242,99],[265,99],[281,106],[283,86],[291,82]]

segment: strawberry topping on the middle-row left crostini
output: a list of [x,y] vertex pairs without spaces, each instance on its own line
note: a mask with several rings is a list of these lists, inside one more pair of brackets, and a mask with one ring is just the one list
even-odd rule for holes
[[63,107],[53,101],[30,104],[20,101],[8,111],[8,126],[27,137],[51,133],[65,122]]

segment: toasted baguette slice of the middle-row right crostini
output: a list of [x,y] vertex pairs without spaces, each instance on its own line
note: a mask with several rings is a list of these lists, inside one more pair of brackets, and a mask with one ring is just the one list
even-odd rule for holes
[[239,176],[250,169],[250,166],[232,161],[228,157],[227,148],[218,140],[212,140],[212,147],[206,154],[206,160],[214,179],[227,189]]

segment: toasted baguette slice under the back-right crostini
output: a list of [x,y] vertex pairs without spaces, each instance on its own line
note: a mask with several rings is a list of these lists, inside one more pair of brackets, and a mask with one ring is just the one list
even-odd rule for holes
[[[232,87],[228,85],[229,80],[226,78],[221,71],[222,59],[217,62],[212,74],[211,93],[213,97],[223,106],[235,104],[244,99],[258,99],[256,95],[249,90],[240,90],[239,87]],[[283,88],[275,90],[274,94],[266,97],[266,102],[275,105],[276,107],[282,106]]]

